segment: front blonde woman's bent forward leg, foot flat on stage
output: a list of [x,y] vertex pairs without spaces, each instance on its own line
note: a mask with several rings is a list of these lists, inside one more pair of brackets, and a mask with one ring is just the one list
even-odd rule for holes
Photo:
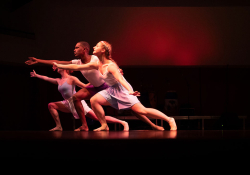
[[102,105],[104,106],[110,106],[109,102],[103,98],[100,94],[95,94],[90,99],[91,107],[93,111],[95,112],[99,122],[101,123],[101,127],[95,129],[94,131],[108,131],[109,127],[105,119],[105,113],[102,108]]

